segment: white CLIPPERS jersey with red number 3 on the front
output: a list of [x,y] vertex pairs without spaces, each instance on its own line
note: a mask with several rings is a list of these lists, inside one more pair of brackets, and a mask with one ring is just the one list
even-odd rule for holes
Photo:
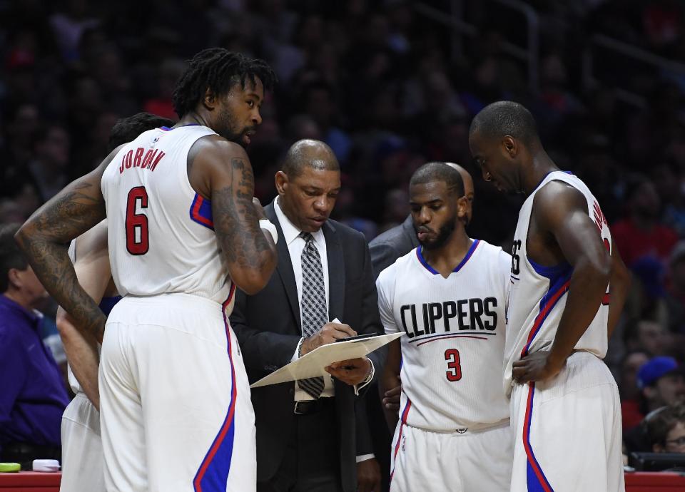
[[436,432],[485,429],[509,418],[502,391],[511,260],[474,240],[449,277],[421,248],[400,257],[376,282],[386,333],[404,331],[400,416]]

